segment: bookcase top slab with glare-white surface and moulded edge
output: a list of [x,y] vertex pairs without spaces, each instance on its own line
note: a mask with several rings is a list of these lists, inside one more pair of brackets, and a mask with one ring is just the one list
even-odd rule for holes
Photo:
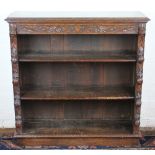
[[13,12],[8,22],[52,22],[52,21],[104,21],[104,22],[147,22],[141,12]]

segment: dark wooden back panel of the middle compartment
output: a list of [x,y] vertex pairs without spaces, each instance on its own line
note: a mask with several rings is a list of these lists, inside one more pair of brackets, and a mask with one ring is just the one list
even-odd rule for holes
[[22,63],[22,88],[133,86],[134,63]]

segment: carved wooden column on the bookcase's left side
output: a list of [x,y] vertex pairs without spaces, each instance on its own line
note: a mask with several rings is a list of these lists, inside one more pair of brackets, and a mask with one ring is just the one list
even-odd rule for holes
[[15,24],[10,24],[10,42],[11,42],[11,61],[12,61],[12,78],[13,78],[13,90],[14,90],[16,134],[21,134],[22,133],[22,117],[21,117],[22,113],[21,113],[21,101],[20,101],[17,34],[16,34]]

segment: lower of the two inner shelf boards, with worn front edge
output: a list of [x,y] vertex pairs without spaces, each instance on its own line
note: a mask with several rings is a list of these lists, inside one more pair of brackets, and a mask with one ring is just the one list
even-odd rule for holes
[[26,89],[21,92],[22,100],[117,100],[134,99],[132,87],[89,87]]

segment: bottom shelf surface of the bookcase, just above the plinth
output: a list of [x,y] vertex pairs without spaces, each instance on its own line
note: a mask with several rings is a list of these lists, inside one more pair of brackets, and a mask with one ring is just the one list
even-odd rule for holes
[[131,121],[114,120],[25,120],[23,135],[105,136],[131,135]]

